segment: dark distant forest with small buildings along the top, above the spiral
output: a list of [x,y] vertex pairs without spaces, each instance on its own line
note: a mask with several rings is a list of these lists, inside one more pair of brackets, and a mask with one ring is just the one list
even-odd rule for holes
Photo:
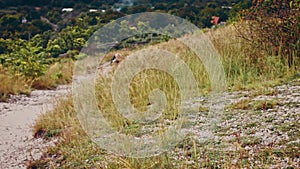
[[[21,36],[28,39],[30,35],[53,29],[53,24],[61,30],[66,25],[74,24],[75,18],[89,9],[98,10],[97,15],[103,23],[126,14],[156,11],[182,17],[204,28],[212,26],[210,20],[213,15],[219,16],[220,21],[226,21],[250,6],[250,0],[1,0],[0,35],[3,38]],[[74,11],[66,13],[62,12],[62,8],[73,8]],[[53,24],[41,20],[41,16]],[[90,17],[95,20],[95,16]]]

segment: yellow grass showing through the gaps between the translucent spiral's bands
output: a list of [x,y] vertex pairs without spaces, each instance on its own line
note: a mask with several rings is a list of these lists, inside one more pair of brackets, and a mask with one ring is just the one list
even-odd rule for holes
[[[192,70],[192,73],[198,83],[199,91],[204,94],[210,90],[208,75],[200,59],[181,42],[170,40],[169,42],[150,46],[149,48],[163,49],[174,53]],[[127,54],[130,55],[131,52],[127,52]],[[115,69],[112,69],[112,72],[108,76],[107,74],[100,73],[96,84],[96,93],[100,110],[107,119],[112,120],[112,124],[114,124],[116,129],[120,130],[124,126],[128,128],[130,125],[134,124],[122,118],[114,105],[111,95],[111,91],[113,90],[111,89],[111,82],[114,71]],[[155,69],[146,69],[138,72],[130,82],[129,86],[130,101],[132,105],[138,111],[145,112],[149,109],[149,106],[151,106],[149,96],[155,89],[163,91],[167,99],[161,120],[176,120],[182,101],[180,89],[175,79],[166,72]],[[134,132],[136,132],[136,130],[134,130]]]

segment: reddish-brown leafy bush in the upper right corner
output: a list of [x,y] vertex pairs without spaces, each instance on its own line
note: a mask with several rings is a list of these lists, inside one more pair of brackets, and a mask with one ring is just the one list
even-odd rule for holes
[[240,28],[247,31],[240,31],[240,35],[258,49],[255,59],[262,53],[278,55],[287,58],[291,66],[293,56],[300,54],[299,8],[299,0],[258,0],[242,12]]

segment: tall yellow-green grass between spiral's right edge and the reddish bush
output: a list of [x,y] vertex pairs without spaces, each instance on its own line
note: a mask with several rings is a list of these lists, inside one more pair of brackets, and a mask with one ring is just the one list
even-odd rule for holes
[[240,32],[247,30],[248,26],[229,25],[208,32],[222,57],[230,89],[274,85],[299,71],[299,58],[296,56],[293,56],[293,64],[289,65],[287,58],[268,54],[241,38]]

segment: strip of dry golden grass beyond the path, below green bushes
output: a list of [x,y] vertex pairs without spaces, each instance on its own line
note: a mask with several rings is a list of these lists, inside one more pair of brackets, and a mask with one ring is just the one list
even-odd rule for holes
[[10,95],[30,94],[34,89],[53,89],[60,84],[70,83],[73,75],[72,60],[60,60],[50,65],[46,73],[32,78],[12,73],[0,65],[0,101],[7,101]]

